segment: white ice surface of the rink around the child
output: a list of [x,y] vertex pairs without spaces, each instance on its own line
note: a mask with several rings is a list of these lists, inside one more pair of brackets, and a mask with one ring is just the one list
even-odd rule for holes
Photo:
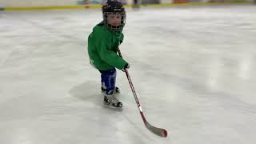
[[120,49],[147,120],[118,70],[106,109],[87,37],[99,10],[0,13],[1,144],[254,144],[256,6],[127,9]]

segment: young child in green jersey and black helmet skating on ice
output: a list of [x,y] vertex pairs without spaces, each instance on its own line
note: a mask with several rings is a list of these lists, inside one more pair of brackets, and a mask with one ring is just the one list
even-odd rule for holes
[[119,93],[115,86],[116,70],[128,69],[128,62],[118,56],[118,46],[122,43],[122,29],[126,23],[126,11],[119,0],[107,0],[102,6],[103,21],[94,26],[88,38],[90,64],[101,73],[104,103],[114,108],[122,108],[122,102],[114,97]]

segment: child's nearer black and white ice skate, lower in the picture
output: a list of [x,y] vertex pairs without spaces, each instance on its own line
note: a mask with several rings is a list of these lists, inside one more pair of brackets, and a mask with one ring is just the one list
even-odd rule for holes
[[122,102],[114,98],[114,94],[104,94],[104,104],[115,109],[122,109]]

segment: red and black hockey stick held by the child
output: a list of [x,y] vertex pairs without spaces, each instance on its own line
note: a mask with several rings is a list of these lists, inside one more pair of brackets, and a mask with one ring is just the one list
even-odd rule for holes
[[[118,54],[119,54],[119,56],[122,58],[122,54],[121,54],[121,51],[120,51],[119,49],[118,49]],[[158,128],[158,127],[154,127],[154,126],[150,125],[149,122],[146,121],[146,118],[145,118],[145,116],[144,116],[144,114],[143,114],[143,111],[142,111],[142,106],[141,106],[141,104],[140,104],[139,101],[138,101],[138,97],[137,97],[137,94],[136,94],[136,92],[135,92],[134,85],[133,85],[133,83],[132,83],[131,80],[130,80],[130,75],[129,75],[129,73],[128,73],[128,70],[127,70],[127,69],[124,69],[124,70],[125,70],[125,72],[126,72],[126,77],[127,77],[128,82],[129,82],[129,84],[130,84],[130,88],[131,88],[131,90],[132,90],[132,92],[133,92],[133,94],[134,94],[134,98],[135,98],[135,101],[136,101],[136,103],[137,103],[138,110],[139,110],[139,112],[140,112],[140,114],[141,114],[141,116],[142,116],[142,120],[143,120],[143,122],[144,122],[146,128],[147,128],[148,130],[150,130],[152,133],[154,133],[154,134],[156,134],[156,135],[158,135],[158,136],[160,136],[160,137],[167,137],[167,131],[166,131],[166,130],[161,129],[161,128]]]

